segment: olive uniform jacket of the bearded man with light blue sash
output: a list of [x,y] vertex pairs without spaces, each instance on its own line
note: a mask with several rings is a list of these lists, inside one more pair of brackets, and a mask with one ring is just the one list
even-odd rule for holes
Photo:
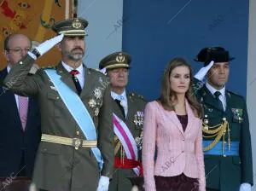
[[[53,136],[85,139],[78,124],[68,112],[54,85],[43,69],[28,76],[34,60],[26,55],[9,72],[4,83],[20,96],[37,96],[41,111],[42,133]],[[71,74],[61,63],[55,68],[61,81],[76,91]],[[96,126],[97,147],[104,159],[100,172],[90,148],[79,148],[51,142],[40,142],[32,181],[38,188],[49,191],[96,191],[99,177],[112,176],[113,171],[113,121],[110,90],[101,72],[84,67],[84,89],[80,98]],[[102,91],[96,99],[94,90]],[[96,105],[89,104],[90,100]],[[75,106],[74,106],[75,107]],[[96,113],[96,107],[99,113]]]

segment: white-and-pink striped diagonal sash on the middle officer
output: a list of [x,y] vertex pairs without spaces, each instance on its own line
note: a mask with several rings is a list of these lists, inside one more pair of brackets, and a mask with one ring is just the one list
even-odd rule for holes
[[[122,119],[119,119],[117,115],[113,113],[113,132],[119,137],[123,148],[125,149],[125,154],[127,159],[137,160],[137,143],[131,134],[131,131],[127,127]],[[140,166],[132,169],[137,176],[140,174]]]

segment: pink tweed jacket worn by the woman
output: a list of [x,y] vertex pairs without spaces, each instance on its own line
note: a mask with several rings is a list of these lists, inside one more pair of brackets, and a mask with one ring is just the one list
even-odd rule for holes
[[[201,119],[196,118],[185,101],[188,125],[174,111],[166,111],[157,101],[146,105],[143,124],[143,171],[146,191],[155,191],[154,175],[174,177],[184,173],[198,178],[200,191],[206,190],[202,151]],[[154,151],[157,159],[154,162]]]

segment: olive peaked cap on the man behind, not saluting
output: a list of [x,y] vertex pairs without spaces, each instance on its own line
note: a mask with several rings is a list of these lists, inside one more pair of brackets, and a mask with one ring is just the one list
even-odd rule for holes
[[107,55],[100,61],[99,68],[114,69],[114,68],[130,68],[131,55],[125,52],[115,52],[111,55]]

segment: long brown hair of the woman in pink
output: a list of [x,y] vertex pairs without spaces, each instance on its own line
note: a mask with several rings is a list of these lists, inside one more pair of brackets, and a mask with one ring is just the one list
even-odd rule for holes
[[[177,101],[177,95],[171,88],[170,75],[174,68],[176,67],[188,67],[189,68],[189,89],[185,93],[185,98],[189,101],[189,105],[195,113],[196,117],[201,117],[202,109],[200,103],[196,100],[195,94],[193,92],[193,75],[189,63],[183,58],[174,58],[166,66],[164,75],[161,81],[161,90],[159,102],[168,111],[174,111],[174,103]],[[174,97],[174,100],[172,100]]]

